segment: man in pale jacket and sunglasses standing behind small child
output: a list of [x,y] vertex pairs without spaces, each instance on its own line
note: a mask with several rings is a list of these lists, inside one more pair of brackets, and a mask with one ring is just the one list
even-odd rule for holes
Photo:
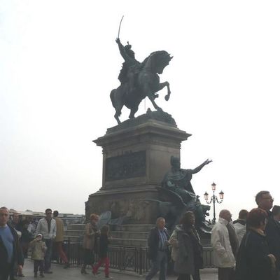
[[45,251],[45,273],[52,273],[50,271],[50,262],[52,260],[52,241],[55,239],[57,234],[57,225],[55,220],[52,218],[52,209],[45,209],[45,218],[41,218],[38,221],[36,228],[36,235],[43,235],[43,241],[47,246],[47,251]]

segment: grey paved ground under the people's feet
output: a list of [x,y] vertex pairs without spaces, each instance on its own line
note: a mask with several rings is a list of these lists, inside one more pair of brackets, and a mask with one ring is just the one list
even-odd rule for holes
[[[68,269],[64,269],[62,265],[52,265],[52,272],[53,274],[45,274],[44,280],[99,280],[104,279],[104,272],[103,269],[100,270],[100,274],[94,276],[92,274],[82,275],[80,274],[79,267],[69,267]],[[33,273],[33,262],[31,260],[25,260],[25,267],[23,270],[25,277],[20,278],[18,280],[34,280],[34,273]],[[87,269],[87,272],[91,272],[90,268]],[[111,269],[110,271],[111,276],[115,280],[139,280],[144,279],[144,276],[135,275],[135,274],[128,274],[128,273],[121,273],[118,270]],[[202,280],[216,280],[218,279],[217,269],[201,269],[200,272]],[[38,277],[38,280],[41,278]],[[158,280],[158,276],[154,277],[155,280]],[[167,276],[167,280],[176,280],[176,276]]]

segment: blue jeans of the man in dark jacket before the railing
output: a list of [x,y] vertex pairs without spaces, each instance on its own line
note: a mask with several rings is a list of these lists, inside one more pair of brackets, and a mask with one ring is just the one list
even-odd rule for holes
[[165,280],[167,274],[167,253],[158,251],[157,258],[153,260],[152,267],[146,276],[146,280],[151,280],[160,271],[159,280]]

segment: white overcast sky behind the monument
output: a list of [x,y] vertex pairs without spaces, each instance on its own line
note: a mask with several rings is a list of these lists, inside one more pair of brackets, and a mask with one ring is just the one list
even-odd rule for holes
[[139,61],[174,56],[161,75],[172,95],[157,102],[193,134],[181,167],[213,160],[192,181],[202,201],[215,181],[217,211],[233,218],[259,190],[280,204],[279,14],[279,1],[0,0],[0,204],[83,214],[102,186],[92,140],[116,125],[122,15],[120,39]]

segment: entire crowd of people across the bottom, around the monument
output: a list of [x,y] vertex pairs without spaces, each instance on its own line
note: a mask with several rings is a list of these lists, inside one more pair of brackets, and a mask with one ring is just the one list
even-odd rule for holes
[[[261,191],[255,196],[256,208],[239,211],[237,220],[232,221],[228,209],[220,211],[217,223],[211,231],[214,265],[218,267],[218,280],[279,280],[280,279],[280,206],[274,205],[268,191]],[[69,260],[62,248],[63,222],[58,218],[58,211],[45,210],[45,218],[38,221],[34,235],[27,230],[28,224],[19,226],[18,216],[9,220],[6,207],[0,208],[0,280],[24,276],[22,267],[31,248],[31,259],[34,260],[34,276],[41,277],[52,271],[52,248],[69,267]],[[111,241],[109,226],[103,225],[99,230],[99,216],[90,215],[85,225],[83,239],[83,267],[81,274],[88,274],[87,265],[94,275],[104,265],[106,279],[109,274],[108,248]],[[21,231],[20,231],[21,230]],[[178,280],[200,280],[200,269],[203,268],[203,248],[200,236],[195,229],[195,214],[186,211],[179,225],[169,236],[165,228],[165,218],[158,218],[155,228],[148,235],[148,258],[151,269],[146,280],[151,280],[159,272],[159,279],[167,278],[167,264],[172,258],[174,272]],[[94,253],[99,254],[95,265]],[[16,268],[16,269],[15,269]]]

